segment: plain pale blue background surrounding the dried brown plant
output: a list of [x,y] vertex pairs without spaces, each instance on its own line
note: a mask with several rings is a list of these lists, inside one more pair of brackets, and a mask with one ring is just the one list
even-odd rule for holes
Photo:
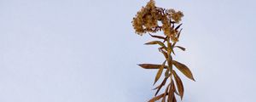
[[[161,63],[132,17],[146,0],[0,0],[1,102],[146,102]],[[256,2],[156,0],[185,14],[183,102],[255,102]]]

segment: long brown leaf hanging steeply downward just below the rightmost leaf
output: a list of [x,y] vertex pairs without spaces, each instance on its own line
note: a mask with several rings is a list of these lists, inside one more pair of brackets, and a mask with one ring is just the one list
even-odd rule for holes
[[184,94],[183,82],[180,79],[180,77],[177,76],[177,73],[175,71],[172,71],[172,73],[176,81],[178,94],[180,95],[180,98],[183,99],[183,94]]

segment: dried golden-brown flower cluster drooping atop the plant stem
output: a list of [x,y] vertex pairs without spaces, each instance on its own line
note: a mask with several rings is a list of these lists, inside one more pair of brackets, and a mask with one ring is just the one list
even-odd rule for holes
[[[182,17],[181,11],[155,7],[154,0],[150,0],[146,7],[137,12],[136,17],[133,18],[132,26],[141,36],[147,32],[164,31],[166,36],[177,42],[178,31],[174,29],[174,24],[178,24]],[[159,26],[159,21],[162,26]]]

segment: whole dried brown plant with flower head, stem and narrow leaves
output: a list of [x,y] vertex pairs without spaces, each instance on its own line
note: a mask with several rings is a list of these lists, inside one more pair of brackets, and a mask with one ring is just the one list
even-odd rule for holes
[[[191,71],[186,65],[172,59],[172,54],[175,55],[174,48],[180,48],[183,51],[185,50],[185,48],[176,45],[182,31],[182,29],[180,29],[182,26],[182,24],[180,24],[182,17],[183,13],[181,11],[176,11],[172,8],[167,9],[156,7],[154,0],[150,0],[145,7],[141,8],[141,10],[137,12],[137,15],[132,20],[132,26],[138,35],[143,36],[143,34],[148,33],[151,37],[162,40],[147,42],[145,44],[160,45],[160,48],[158,49],[166,58],[160,65],[139,64],[144,69],[158,69],[154,79],[154,84],[160,79],[163,71],[165,71],[165,78],[160,82],[159,86],[154,88],[154,90],[156,90],[155,96],[148,102],[154,102],[159,99],[162,99],[162,102],[165,102],[166,100],[167,102],[176,102],[176,95],[183,99],[183,82],[180,77],[178,77],[173,66],[175,66],[177,70],[181,71],[183,75],[195,81]],[[163,31],[164,35],[158,36],[151,34],[159,31]],[[170,81],[167,81],[168,79],[170,79]],[[168,84],[164,93],[158,94],[160,89],[163,88],[166,83]]]

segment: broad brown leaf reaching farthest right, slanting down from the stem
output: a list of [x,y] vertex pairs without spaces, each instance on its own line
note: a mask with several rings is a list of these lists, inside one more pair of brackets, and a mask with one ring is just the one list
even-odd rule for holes
[[179,71],[181,71],[186,77],[188,77],[189,79],[195,81],[192,72],[189,70],[189,68],[186,65],[183,65],[182,63],[179,63],[175,60],[172,60],[173,65],[175,65],[177,67],[177,69]]

